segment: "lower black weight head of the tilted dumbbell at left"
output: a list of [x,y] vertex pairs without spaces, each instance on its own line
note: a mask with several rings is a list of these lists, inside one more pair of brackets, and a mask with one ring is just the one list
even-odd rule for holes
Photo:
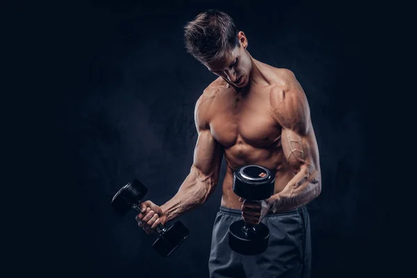
[[190,234],[190,231],[188,231],[181,221],[177,221],[165,233],[161,234],[152,247],[161,256],[169,256],[186,240],[188,234]]

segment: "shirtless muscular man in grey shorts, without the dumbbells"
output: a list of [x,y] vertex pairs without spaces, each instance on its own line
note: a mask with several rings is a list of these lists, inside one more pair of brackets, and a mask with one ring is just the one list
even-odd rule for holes
[[[208,262],[211,277],[309,277],[311,243],[306,204],[321,191],[318,145],[309,104],[293,72],[254,59],[245,33],[218,10],[185,26],[188,53],[219,76],[197,100],[194,163],[178,193],[162,206],[147,201],[136,220],[148,234],[161,222],[204,204],[227,172]],[[275,195],[259,202],[239,198],[233,173],[243,165],[275,173]],[[230,250],[227,231],[243,218],[270,230],[268,250],[243,256]]]

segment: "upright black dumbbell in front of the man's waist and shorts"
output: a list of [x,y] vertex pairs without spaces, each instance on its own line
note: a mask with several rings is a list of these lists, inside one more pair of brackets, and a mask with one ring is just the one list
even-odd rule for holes
[[[233,190],[243,199],[258,201],[274,194],[275,176],[268,168],[259,165],[238,167],[234,172]],[[269,229],[263,223],[256,225],[244,220],[233,222],[229,227],[229,247],[243,255],[264,252],[269,243]]]

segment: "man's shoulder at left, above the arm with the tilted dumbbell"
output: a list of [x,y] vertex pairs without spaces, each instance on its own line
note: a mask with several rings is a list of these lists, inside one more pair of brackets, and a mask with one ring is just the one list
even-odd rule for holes
[[208,129],[208,124],[211,120],[211,105],[214,99],[218,96],[220,90],[222,90],[217,79],[213,81],[199,96],[195,103],[195,124],[197,130]]

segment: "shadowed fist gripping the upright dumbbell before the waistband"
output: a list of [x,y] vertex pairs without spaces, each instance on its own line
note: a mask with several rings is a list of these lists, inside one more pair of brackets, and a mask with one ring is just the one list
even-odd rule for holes
[[257,225],[270,211],[271,205],[267,200],[248,201],[247,199],[239,198],[242,202],[242,218],[249,224]]

